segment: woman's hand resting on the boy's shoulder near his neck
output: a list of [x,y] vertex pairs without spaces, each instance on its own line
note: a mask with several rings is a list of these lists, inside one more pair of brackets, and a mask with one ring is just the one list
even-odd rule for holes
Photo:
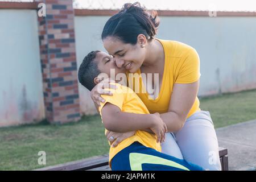
[[110,82],[114,82],[110,78],[106,78],[99,82],[94,88],[90,91],[90,97],[92,98],[94,105],[96,108],[100,107],[101,102],[104,103],[105,100],[104,98],[101,97],[101,95],[106,95],[106,96],[112,96],[112,92],[108,90],[104,90],[105,88],[110,88],[110,89],[117,89],[117,86],[110,84]]

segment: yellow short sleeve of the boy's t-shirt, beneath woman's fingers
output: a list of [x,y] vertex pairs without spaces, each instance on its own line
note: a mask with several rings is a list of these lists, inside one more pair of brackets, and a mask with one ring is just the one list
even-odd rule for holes
[[101,102],[101,105],[99,107],[99,111],[100,111],[100,114],[101,114],[101,110],[102,108],[104,107],[104,105],[106,103],[110,103],[110,104],[113,104],[115,106],[118,106],[120,110],[122,110],[122,106],[123,106],[123,101],[124,101],[124,93],[122,92],[122,88],[121,88],[121,85],[117,85],[117,89],[105,89],[105,90],[109,90],[113,93],[113,96],[106,96],[106,95],[101,95],[102,98],[105,99],[105,102],[102,103]]

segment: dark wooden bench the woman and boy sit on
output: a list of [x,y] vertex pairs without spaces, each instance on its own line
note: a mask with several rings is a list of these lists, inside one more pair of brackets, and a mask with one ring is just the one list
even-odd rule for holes
[[[219,147],[222,171],[228,171],[228,150]],[[109,155],[94,156],[88,159],[77,160],[56,166],[49,166],[36,171],[109,171]]]

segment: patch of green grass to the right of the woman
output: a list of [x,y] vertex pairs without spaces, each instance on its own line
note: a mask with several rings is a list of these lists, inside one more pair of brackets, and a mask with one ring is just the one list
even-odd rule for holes
[[210,111],[215,128],[256,119],[256,90],[201,98],[200,108]]

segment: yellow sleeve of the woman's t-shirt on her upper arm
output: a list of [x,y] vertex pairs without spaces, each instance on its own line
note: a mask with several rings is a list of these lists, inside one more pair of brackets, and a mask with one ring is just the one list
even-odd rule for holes
[[181,59],[183,63],[177,74],[175,84],[190,84],[199,80],[200,59],[195,49],[190,49],[188,53]]

